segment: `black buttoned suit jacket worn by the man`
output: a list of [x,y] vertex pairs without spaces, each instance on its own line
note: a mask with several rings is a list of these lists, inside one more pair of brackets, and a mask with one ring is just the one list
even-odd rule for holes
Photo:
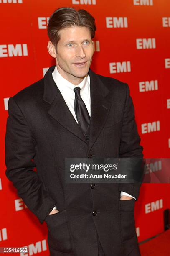
[[[94,189],[90,184],[66,184],[64,166],[65,158],[89,154],[142,157],[129,87],[89,70],[87,141],[53,80],[53,69],[9,99],[6,176],[40,222],[46,221],[48,245],[55,255],[97,256],[98,234],[106,256],[125,256],[137,238],[134,200],[120,201],[120,191],[137,198],[140,184],[96,184]],[[60,212],[49,215],[54,205]]]

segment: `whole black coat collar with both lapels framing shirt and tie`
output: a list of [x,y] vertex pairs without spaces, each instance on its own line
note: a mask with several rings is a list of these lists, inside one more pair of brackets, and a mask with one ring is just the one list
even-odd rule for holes
[[[82,141],[86,142],[86,139],[81,132],[79,125],[76,123],[73,115],[69,111],[69,108],[64,101],[61,92],[56,86],[52,72],[55,66],[48,69],[44,77],[44,93],[43,100],[48,102],[51,106],[48,113],[58,121],[63,127],[68,129],[71,133],[76,135]],[[109,90],[101,81],[99,76],[89,69],[90,76],[90,95],[91,95],[91,118],[90,118],[90,137],[89,148],[93,146],[96,138],[99,136],[104,123],[107,120],[107,116],[110,109]]]

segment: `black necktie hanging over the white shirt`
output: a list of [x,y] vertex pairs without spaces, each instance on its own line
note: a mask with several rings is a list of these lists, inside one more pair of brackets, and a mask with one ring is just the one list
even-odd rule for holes
[[86,105],[80,96],[80,87],[74,88],[75,100],[74,100],[74,111],[76,114],[77,121],[84,134],[87,131],[89,125],[90,116],[87,111]]

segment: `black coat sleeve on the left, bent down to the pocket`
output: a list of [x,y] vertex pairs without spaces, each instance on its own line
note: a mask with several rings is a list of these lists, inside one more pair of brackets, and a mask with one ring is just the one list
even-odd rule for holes
[[48,195],[38,174],[33,170],[36,164],[36,140],[28,123],[13,97],[8,102],[8,118],[5,135],[5,174],[13,182],[18,195],[27,207],[43,223],[51,212],[55,201]]

